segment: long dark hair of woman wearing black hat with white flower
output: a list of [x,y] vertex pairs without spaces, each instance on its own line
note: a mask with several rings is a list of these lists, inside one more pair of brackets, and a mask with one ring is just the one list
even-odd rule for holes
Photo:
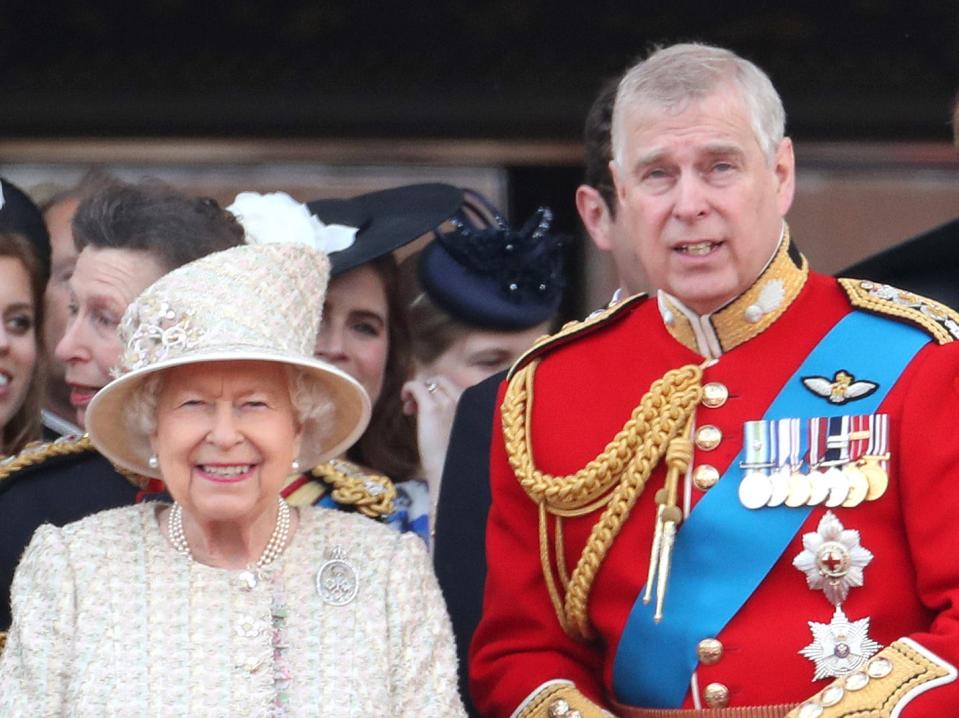
[[403,414],[400,391],[410,365],[410,338],[403,321],[397,281],[396,260],[386,255],[363,265],[373,269],[383,282],[389,311],[389,354],[383,377],[383,390],[373,405],[370,425],[349,451],[347,458],[394,481],[413,478],[420,464],[416,445],[416,425]]

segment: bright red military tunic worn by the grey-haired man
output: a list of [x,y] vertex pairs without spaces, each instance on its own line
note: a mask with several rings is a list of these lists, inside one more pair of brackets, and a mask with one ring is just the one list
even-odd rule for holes
[[[722,384],[729,395],[721,406],[703,405],[695,411],[696,427],[708,424],[721,432],[714,448],[695,449],[690,472],[680,485],[680,505],[685,494],[687,506],[695,509],[704,490],[691,477],[702,474],[704,465],[720,474],[726,470],[742,449],[744,423],[763,416],[803,359],[853,310],[835,280],[816,274],[797,280],[796,266],[780,261],[785,255],[781,249],[757,282],[768,280],[770,272],[783,272],[787,287],[796,282],[796,291],[787,291],[781,306],[758,322],[755,336],[727,313],[713,317],[714,336],[704,338],[699,332],[697,341],[683,322],[666,326],[655,301],[638,299],[614,309],[594,329],[553,342],[545,351],[534,349],[541,357],[529,419],[536,467],[554,475],[576,472],[603,451],[653,381],[682,365],[701,364],[704,352],[697,348],[718,340],[718,360],[705,369],[702,381]],[[737,300],[721,311],[741,313],[741,305]],[[919,350],[879,408],[888,414],[890,425],[885,495],[832,511],[845,528],[860,532],[862,545],[874,556],[865,568],[864,585],[853,588],[843,604],[850,620],[869,617],[870,637],[883,646],[909,637],[930,652],[931,670],[954,676],[952,665],[959,663],[959,442],[952,433],[959,421],[959,342],[939,338],[942,345],[931,340]],[[883,347],[862,351],[881,352]],[[857,413],[854,403],[848,408],[850,414]],[[496,421],[498,427],[498,414]],[[508,463],[502,432],[495,436],[489,574],[470,661],[476,704],[489,716],[562,715],[565,705],[549,713],[549,704],[540,698],[556,689],[551,682],[569,681],[597,706],[613,710],[613,663],[630,610],[646,583],[654,495],[664,483],[663,466],[653,470],[599,568],[588,601],[596,638],[582,642],[564,632],[550,602],[540,559],[538,507]],[[728,478],[738,476],[741,472]],[[720,634],[702,636],[719,643],[704,644],[712,648],[709,665],[697,667],[682,708],[796,705],[829,685],[829,679],[812,681],[814,665],[799,651],[812,640],[808,622],[828,623],[833,606],[822,591],[810,590],[805,575],[793,566],[803,549],[803,534],[816,531],[825,512],[823,506],[811,511]],[[570,569],[600,513],[564,520]],[[728,570],[735,576],[737,567]],[[721,657],[715,660],[717,647]],[[887,713],[875,715],[888,714],[897,705],[904,718],[949,715],[959,705],[959,683],[938,685],[948,680],[941,678],[925,692],[910,693],[910,686],[898,686],[898,692],[890,688],[890,695],[879,699],[886,701]],[[917,679],[916,685],[920,683]],[[876,681],[870,690],[875,692],[876,686],[883,687]],[[570,702],[583,715],[599,714],[588,702]],[[842,715],[829,711],[843,705],[848,701],[823,715]]]

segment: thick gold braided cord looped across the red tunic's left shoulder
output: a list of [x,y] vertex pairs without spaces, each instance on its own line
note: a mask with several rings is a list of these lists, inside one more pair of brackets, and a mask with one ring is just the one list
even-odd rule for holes
[[[689,422],[702,397],[703,367],[686,365],[653,382],[602,453],[574,474],[553,476],[537,469],[532,457],[530,417],[538,365],[537,359],[520,369],[507,388],[502,407],[506,452],[523,490],[539,506],[540,561],[556,616],[570,636],[588,639],[592,629],[587,604],[593,580],[670,442],[688,443]],[[672,459],[681,462],[688,452],[672,453]],[[567,577],[562,551],[563,517],[582,516],[604,506],[606,510],[593,526],[576,567]],[[555,517],[556,571],[566,591],[565,599],[553,577],[548,514]]]

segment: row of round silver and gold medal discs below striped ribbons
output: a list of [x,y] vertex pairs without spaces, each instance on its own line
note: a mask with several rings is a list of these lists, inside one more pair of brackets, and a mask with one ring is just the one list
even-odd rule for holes
[[801,467],[781,466],[766,473],[750,468],[739,483],[739,500],[748,509],[764,506],[851,508],[875,501],[886,492],[889,475],[882,467],[889,455],[863,456],[854,462],[820,465],[803,473]]

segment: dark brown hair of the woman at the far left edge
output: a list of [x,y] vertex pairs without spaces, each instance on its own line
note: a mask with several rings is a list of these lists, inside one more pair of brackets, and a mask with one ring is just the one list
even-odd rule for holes
[[20,262],[30,277],[30,299],[33,302],[33,336],[37,347],[37,361],[30,377],[30,385],[23,405],[3,426],[0,435],[0,455],[16,454],[27,442],[40,438],[40,405],[44,389],[43,352],[43,290],[46,288],[43,264],[33,244],[21,234],[0,232],[0,257],[12,257]]

